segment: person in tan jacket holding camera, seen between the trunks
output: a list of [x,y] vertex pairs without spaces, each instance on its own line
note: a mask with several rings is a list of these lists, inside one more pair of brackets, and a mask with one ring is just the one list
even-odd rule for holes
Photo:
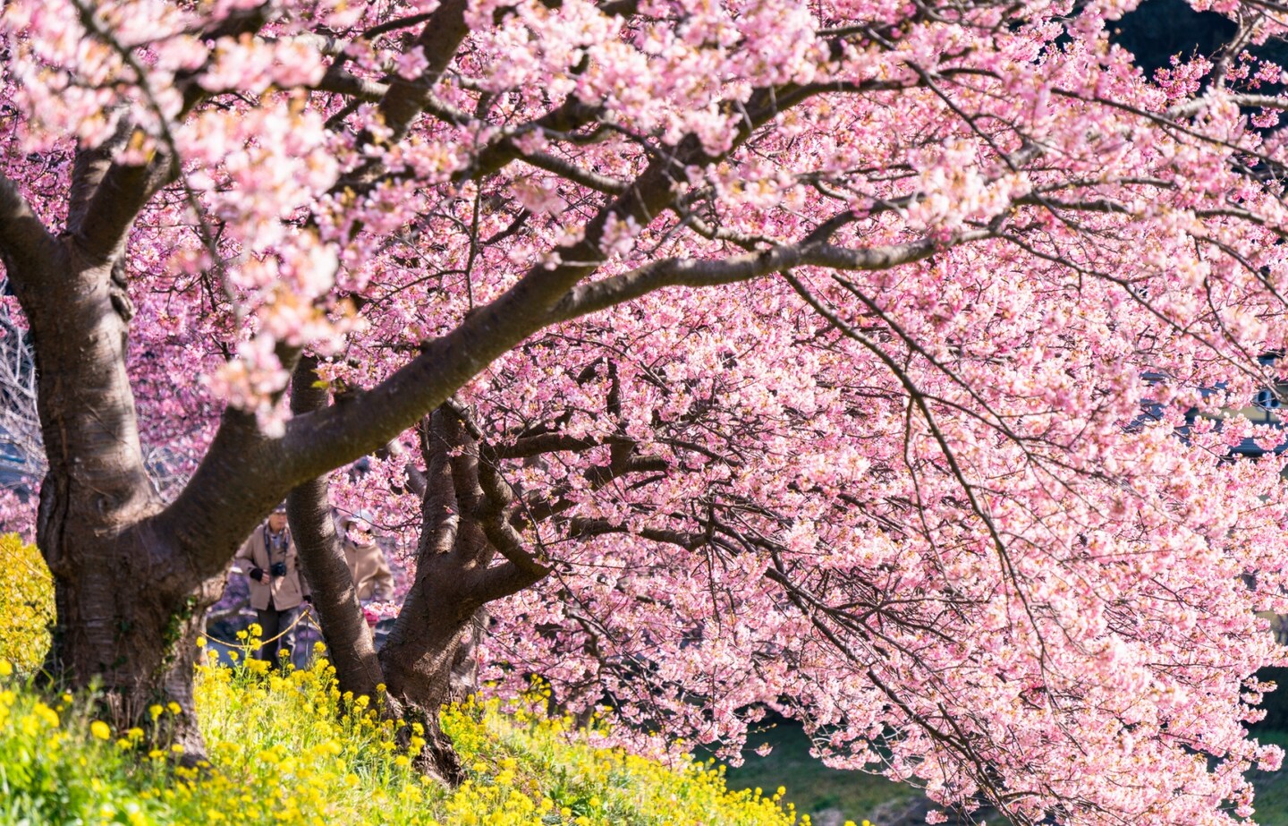
[[259,648],[259,658],[276,666],[278,652],[285,648],[278,635],[291,626],[300,604],[312,600],[309,584],[300,573],[291,528],[286,524],[285,504],[274,508],[268,521],[251,532],[234,563],[250,579],[250,606],[265,640]]

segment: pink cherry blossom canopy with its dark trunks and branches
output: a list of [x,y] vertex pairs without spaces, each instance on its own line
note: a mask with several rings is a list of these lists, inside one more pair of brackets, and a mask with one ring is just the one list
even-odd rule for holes
[[[201,754],[290,494],[341,682],[431,728],[486,607],[492,691],[641,745],[768,707],[1016,822],[1252,813],[1283,461],[1213,418],[1288,345],[1288,12],[1144,77],[1131,5],[10,0],[50,668]],[[415,540],[379,657],[332,499]]]

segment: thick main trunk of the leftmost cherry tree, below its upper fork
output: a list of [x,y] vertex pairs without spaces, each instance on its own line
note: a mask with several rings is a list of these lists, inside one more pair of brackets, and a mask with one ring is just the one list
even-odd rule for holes
[[46,278],[28,289],[40,371],[39,410],[49,472],[36,541],[54,575],[58,611],[50,674],[98,684],[120,725],[157,725],[193,758],[204,753],[192,704],[194,638],[222,589],[202,581],[155,523],[152,490],[126,374],[133,309],[113,264],[64,241]]

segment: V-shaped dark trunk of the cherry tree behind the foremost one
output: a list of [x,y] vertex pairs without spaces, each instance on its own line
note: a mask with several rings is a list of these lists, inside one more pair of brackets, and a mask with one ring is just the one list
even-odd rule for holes
[[[327,390],[314,371],[314,358],[296,365],[291,380],[296,415],[327,406]],[[386,714],[419,722],[425,729],[420,767],[451,785],[462,781],[464,772],[438,713],[478,688],[475,649],[487,621],[484,604],[545,573],[537,566],[519,570],[513,562],[491,566],[497,554],[491,533],[504,523],[513,492],[502,490],[493,469],[480,468],[479,434],[462,415],[468,414],[444,406],[421,423],[426,470],[412,481],[421,495],[416,579],[379,657],[335,536],[327,477],[299,485],[287,497],[341,688],[377,697],[383,683],[385,693],[379,698]]]

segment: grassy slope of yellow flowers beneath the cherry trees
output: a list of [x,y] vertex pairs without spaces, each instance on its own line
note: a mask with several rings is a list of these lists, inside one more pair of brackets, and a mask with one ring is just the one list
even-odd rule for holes
[[[246,647],[256,643],[247,635]],[[419,723],[384,719],[307,670],[200,666],[197,714],[210,763],[183,768],[142,728],[112,731],[91,698],[46,705],[0,668],[0,777],[31,822],[389,826],[791,826],[781,795],[730,792],[723,769],[674,769],[594,745],[569,719],[468,702],[440,722],[466,767],[455,790],[421,774]],[[0,665],[8,666],[0,661]],[[166,731],[175,709],[151,709]],[[57,817],[55,817],[57,813]],[[801,823],[808,818],[801,818]]]

